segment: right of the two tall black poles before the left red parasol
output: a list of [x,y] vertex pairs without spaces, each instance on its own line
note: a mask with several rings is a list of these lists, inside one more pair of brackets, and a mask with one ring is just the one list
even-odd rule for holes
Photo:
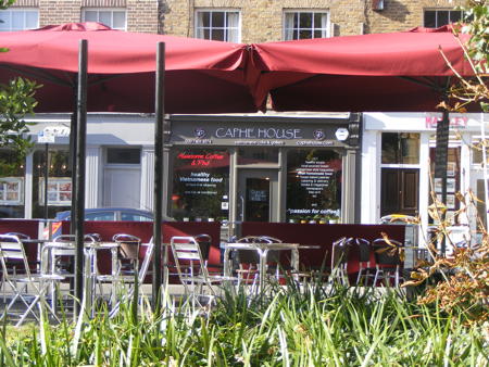
[[[165,43],[159,42],[156,49],[156,75],[155,75],[155,126],[154,126],[154,195],[153,195],[153,283],[152,307],[159,309],[162,286],[162,241],[161,226],[163,222],[163,122],[165,101]],[[166,264],[166,251],[163,252],[163,263]]]

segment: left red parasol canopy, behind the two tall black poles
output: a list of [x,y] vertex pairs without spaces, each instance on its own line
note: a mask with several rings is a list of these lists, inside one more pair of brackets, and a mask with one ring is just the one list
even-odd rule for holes
[[0,33],[0,83],[24,76],[43,85],[37,112],[72,112],[78,40],[88,40],[88,111],[154,112],[156,43],[165,42],[165,112],[254,112],[244,45],[112,30],[70,23]]

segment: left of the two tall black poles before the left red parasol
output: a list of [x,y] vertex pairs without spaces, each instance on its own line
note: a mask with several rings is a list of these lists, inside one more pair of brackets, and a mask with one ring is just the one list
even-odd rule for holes
[[78,93],[77,112],[77,154],[76,154],[76,217],[75,220],[75,308],[74,317],[78,316],[84,295],[84,220],[85,220],[85,160],[87,141],[87,59],[88,41],[79,40],[78,51]]

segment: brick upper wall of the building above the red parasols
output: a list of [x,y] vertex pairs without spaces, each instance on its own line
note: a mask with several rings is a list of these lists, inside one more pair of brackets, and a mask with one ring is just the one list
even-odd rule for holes
[[122,11],[124,29],[199,37],[198,12],[237,14],[240,42],[285,39],[285,14],[326,14],[323,36],[404,30],[424,25],[426,11],[442,11],[463,0],[17,0],[13,9],[38,10],[38,25],[84,21],[87,10]]

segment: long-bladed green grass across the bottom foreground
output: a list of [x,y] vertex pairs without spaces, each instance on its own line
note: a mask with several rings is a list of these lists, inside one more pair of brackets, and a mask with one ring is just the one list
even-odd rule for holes
[[[211,313],[130,304],[76,326],[3,327],[0,365],[488,366],[488,326],[402,295],[347,288],[226,293]],[[486,333],[485,333],[486,332]]]

